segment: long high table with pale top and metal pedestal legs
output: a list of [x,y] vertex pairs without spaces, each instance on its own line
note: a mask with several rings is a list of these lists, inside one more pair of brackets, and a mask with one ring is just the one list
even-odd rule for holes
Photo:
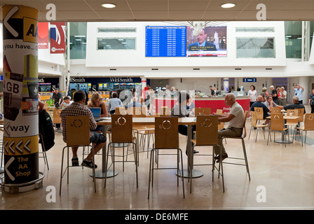
[[[132,118],[133,125],[155,125],[155,117],[146,117],[146,118]],[[107,125],[111,125],[111,118],[102,118],[101,121],[97,122],[97,125],[102,125],[102,132],[104,136],[107,136]],[[192,150],[191,147],[191,137],[192,137],[192,125],[196,125],[196,117],[193,118],[178,118],[178,125],[187,125],[188,126],[188,155],[191,155],[190,151]],[[137,144],[137,151],[138,151],[138,144]],[[97,179],[104,179],[106,176],[106,157],[107,157],[107,144],[104,144],[102,148],[102,170],[96,171],[96,178]],[[183,162],[183,161],[182,161]],[[187,169],[184,170],[184,177],[189,177],[189,167],[192,167],[192,177],[200,177],[203,176],[203,172],[200,172],[196,169],[193,169],[193,156],[192,158],[188,157]],[[107,170],[107,178],[118,175],[118,172],[113,172],[111,169]],[[90,174],[93,176],[93,172]]]

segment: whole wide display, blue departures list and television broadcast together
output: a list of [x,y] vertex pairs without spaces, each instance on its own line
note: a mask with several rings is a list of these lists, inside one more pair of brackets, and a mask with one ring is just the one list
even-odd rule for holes
[[146,26],[146,57],[226,57],[226,26]]

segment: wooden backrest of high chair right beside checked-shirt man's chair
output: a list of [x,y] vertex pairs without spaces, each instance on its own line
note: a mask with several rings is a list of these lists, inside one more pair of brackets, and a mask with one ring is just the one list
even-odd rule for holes
[[111,142],[132,142],[132,115],[111,115]]

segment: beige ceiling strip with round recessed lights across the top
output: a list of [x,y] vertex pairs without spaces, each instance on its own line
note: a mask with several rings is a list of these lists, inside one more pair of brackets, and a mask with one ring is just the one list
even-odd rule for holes
[[[233,2],[234,8],[221,8]],[[266,20],[314,20],[314,0],[0,0],[0,6],[21,5],[39,10],[46,22],[46,6],[55,4],[56,21],[257,21],[257,5],[266,6]],[[102,3],[115,3],[108,9]],[[2,10],[0,11],[2,20]]]

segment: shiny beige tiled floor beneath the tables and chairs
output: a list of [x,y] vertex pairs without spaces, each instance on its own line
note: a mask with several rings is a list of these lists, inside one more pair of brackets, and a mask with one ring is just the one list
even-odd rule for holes
[[[266,130],[267,131],[267,130]],[[55,146],[47,152],[49,170],[40,158],[39,171],[45,174],[43,188],[25,193],[1,191],[0,209],[314,209],[314,132],[308,132],[307,142],[266,145],[262,132],[255,143],[255,133],[248,139],[250,120],[247,120],[245,145],[249,160],[251,181],[245,167],[224,165],[225,193],[221,178],[212,174],[209,166],[197,166],[204,173],[193,179],[193,191],[189,193],[188,179],[177,187],[175,170],[158,170],[154,175],[151,197],[147,199],[149,159],[146,153],[139,155],[139,187],[136,188],[135,165],[128,163],[125,171],[117,164],[118,175],[96,179],[97,193],[93,191],[91,169],[70,169],[69,184],[62,181],[59,195],[61,152],[64,146],[62,134],[55,136]],[[273,134],[272,134],[273,137]],[[266,132],[267,138],[267,132]],[[280,138],[280,134],[276,134]],[[299,139],[299,137],[298,137]],[[273,139],[272,139],[273,140]],[[240,140],[228,139],[226,151],[229,157],[243,156]],[[186,137],[180,136],[180,146],[185,151]],[[212,148],[198,148],[199,154],[210,153]],[[208,156],[195,157],[195,163],[210,162]],[[225,160],[230,161],[229,159]],[[81,158],[80,158],[81,162]],[[175,165],[173,155],[161,157],[161,165]],[[98,169],[102,167],[102,155],[96,155]],[[184,169],[186,155],[184,154]],[[50,189],[55,189],[51,191]],[[55,193],[55,194],[54,194]],[[50,202],[55,199],[55,202]]]

